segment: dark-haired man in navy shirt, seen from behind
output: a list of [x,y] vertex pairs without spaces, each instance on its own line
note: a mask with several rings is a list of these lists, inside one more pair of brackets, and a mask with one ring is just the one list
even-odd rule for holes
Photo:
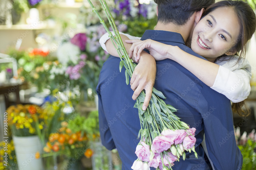
[[[206,8],[214,1],[156,0],[155,2],[158,4],[157,25],[155,30],[147,30],[141,40],[152,39],[178,46],[187,53],[204,59],[185,46],[185,42],[190,41],[189,37],[202,15],[202,8]],[[106,46],[108,48],[109,44],[106,43]],[[129,45],[126,44],[127,48]],[[122,160],[122,169],[131,169],[133,161],[137,159],[134,152],[139,142],[137,135],[141,127],[138,110],[133,108],[135,101],[131,99],[133,90],[125,83],[125,69],[123,68],[119,73],[119,62],[119,58],[110,56],[100,73],[97,86],[100,133],[102,144],[107,149],[117,148]],[[145,66],[147,69],[155,67],[152,64],[147,65],[148,63],[152,63],[152,57],[141,55],[135,69]],[[146,69],[140,71],[144,71],[145,74],[147,72]],[[166,104],[178,109],[176,115],[190,127],[196,128],[195,150],[198,159],[193,152],[187,152],[185,161],[176,161],[172,169],[211,168],[204,159],[204,150],[200,145],[204,133],[209,157],[215,169],[241,169],[242,155],[234,138],[230,100],[206,86],[172,60],[156,61],[156,73],[154,87],[163,92]]]

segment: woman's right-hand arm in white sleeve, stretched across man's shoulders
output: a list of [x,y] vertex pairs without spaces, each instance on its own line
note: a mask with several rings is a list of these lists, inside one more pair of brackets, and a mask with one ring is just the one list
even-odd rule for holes
[[222,65],[223,63],[215,64],[198,58],[177,46],[166,45],[153,40],[129,40],[126,42],[133,43],[129,56],[133,53],[134,57],[139,59],[141,50],[147,48],[156,60],[172,59],[234,103],[243,101],[250,94],[251,66],[247,60],[234,65],[236,62],[236,58],[234,58],[233,60],[221,61],[230,62],[230,64],[219,66],[218,64]]

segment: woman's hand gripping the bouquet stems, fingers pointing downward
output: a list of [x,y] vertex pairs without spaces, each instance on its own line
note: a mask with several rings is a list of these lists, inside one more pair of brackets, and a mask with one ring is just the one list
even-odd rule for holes
[[146,97],[143,103],[143,110],[146,110],[152,96],[152,89],[156,79],[156,61],[155,59],[143,51],[138,65],[135,67],[131,77],[131,88],[134,91],[132,99],[140,95],[141,91],[145,89]]

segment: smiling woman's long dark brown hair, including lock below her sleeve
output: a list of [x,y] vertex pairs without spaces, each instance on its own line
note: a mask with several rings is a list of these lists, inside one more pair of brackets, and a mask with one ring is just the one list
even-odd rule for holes
[[[230,51],[233,53],[241,51],[237,62],[235,64],[238,64],[239,61],[244,58],[246,53],[246,44],[251,39],[253,33],[256,29],[256,17],[253,9],[250,7],[249,4],[243,2],[243,1],[219,1],[215,4],[212,4],[202,14],[202,18],[208,15],[210,12],[214,11],[217,8],[221,7],[229,7],[232,8],[238,18],[238,21],[240,23],[240,35],[238,36],[238,39],[236,42],[234,42],[234,46]],[[219,58],[227,56],[222,55]],[[232,57],[231,57],[232,58]],[[230,59],[231,59],[230,58]],[[242,109],[244,107],[245,109]],[[238,113],[240,116],[248,116],[250,114],[250,109],[246,106],[244,101],[238,102],[238,103],[232,103],[232,111],[234,113]]]

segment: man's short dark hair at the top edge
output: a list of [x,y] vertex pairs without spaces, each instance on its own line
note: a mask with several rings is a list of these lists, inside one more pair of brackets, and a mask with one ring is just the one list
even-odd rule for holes
[[158,6],[158,21],[184,25],[196,11],[207,8],[215,0],[154,0]]

